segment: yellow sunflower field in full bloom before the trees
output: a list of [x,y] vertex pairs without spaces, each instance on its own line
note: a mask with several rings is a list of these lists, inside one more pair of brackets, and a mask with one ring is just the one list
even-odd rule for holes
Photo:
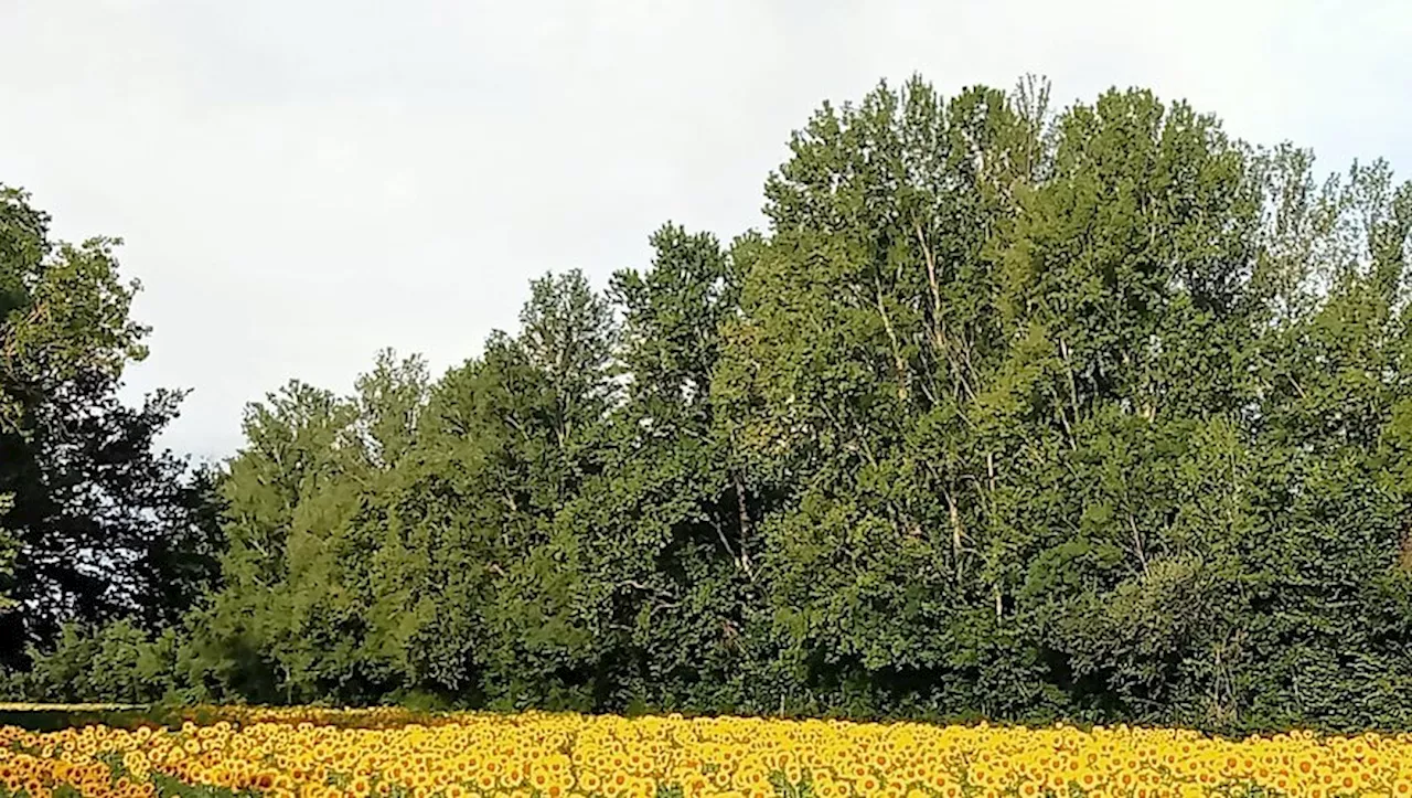
[[1412,797],[1412,734],[244,710],[0,727],[0,795]]

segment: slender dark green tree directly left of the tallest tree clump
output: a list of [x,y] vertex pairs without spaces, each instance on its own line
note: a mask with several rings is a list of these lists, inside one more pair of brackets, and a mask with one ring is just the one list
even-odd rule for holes
[[758,677],[753,530],[760,496],[734,468],[710,386],[740,273],[709,233],[666,225],[648,268],[613,275],[623,403],[602,475],[566,503],[597,599],[602,706],[736,706]]

